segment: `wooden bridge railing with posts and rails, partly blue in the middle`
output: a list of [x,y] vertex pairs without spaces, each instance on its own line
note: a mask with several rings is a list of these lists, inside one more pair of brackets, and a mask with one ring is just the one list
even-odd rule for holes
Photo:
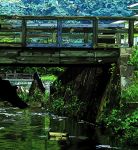
[[[126,23],[113,23],[119,20]],[[76,46],[95,48],[100,45],[100,36],[110,41],[110,35],[115,36],[113,44],[120,44],[122,35],[127,35],[132,47],[138,33],[136,21],[138,17],[0,16],[0,47],[74,47],[81,39]],[[68,45],[72,37],[75,42]]]

